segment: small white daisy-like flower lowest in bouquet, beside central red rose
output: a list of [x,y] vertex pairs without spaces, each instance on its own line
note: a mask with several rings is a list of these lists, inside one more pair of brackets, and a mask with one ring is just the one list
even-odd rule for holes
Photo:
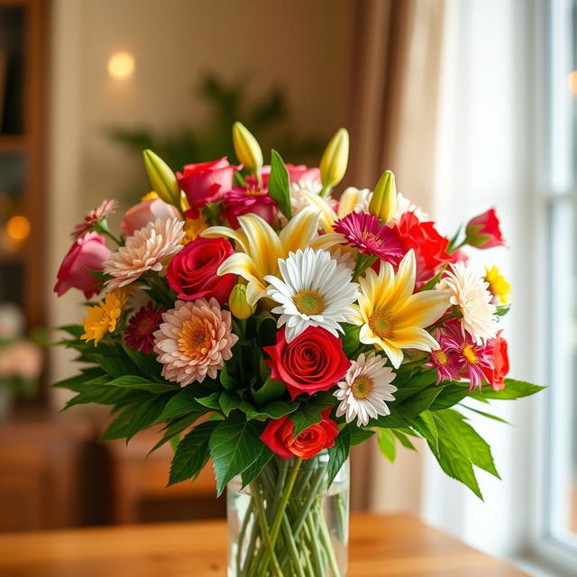
[[395,400],[393,393],[397,387],[391,384],[395,373],[385,362],[375,353],[366,357],[361,353],[351,362],[344,380],[338,383],[339,389],[334,391],[334,396],[341,401],[336,409],[337,417],[344,415],[347,423],[357,417],[357,426],[367,426],[370,418],[390,414],[385,401]]

